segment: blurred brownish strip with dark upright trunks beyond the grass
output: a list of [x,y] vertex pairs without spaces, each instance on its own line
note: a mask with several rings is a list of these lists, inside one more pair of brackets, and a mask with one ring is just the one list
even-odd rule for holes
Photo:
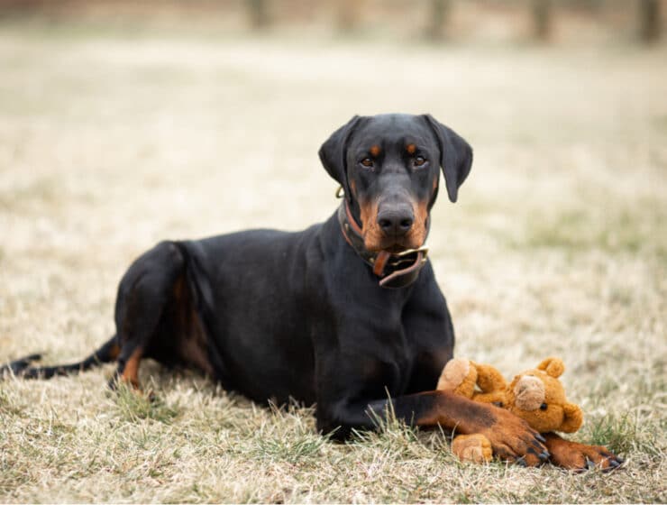
[[663,0],[0,0],[8,19],[39,15],[227,34],[248,31],[430,41],[659,41]]

